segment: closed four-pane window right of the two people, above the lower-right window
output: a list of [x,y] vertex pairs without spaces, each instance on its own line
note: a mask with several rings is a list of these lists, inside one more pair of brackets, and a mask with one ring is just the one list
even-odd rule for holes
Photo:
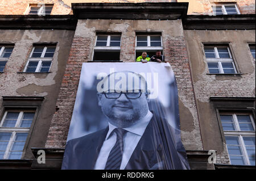
[[210,74],[235,74],[233,58],[228,47],[204,47]]

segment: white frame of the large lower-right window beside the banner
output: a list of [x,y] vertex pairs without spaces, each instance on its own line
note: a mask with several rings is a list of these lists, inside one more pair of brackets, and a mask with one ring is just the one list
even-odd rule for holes
[[[236,131],[224,131],[224,136],[238,136],[238,141],[241,144],[241,150],[242,150],[242,154],[245,157],[245,164],[246,165],[250,165],[250,160],[246,151],[246,146],[245,146],[245,142],[243,141],[243,136],[247,136],[247,137],[255,137],[255,123],[253,121],[253,116],[250,113],[220,113],[220,115],[232,115],[233,117],[233,121],[234,121],[234,127],[236,128]],[[237,119],[236,115],[249,115],[250,116],[250,120],[251,120],[251,124],[253,125],[254,131],[241,131],[240,129],[240,125]],[[228,150],[228,146],[226,145],[226,150]],[[228,154],[229,155],[229,154]],[[230,161],[230,155],[229,155],[229,162]]]

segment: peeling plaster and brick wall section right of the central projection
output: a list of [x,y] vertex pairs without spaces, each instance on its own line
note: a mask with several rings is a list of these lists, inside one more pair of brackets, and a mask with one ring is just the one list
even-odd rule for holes
[[[249,43],[255,44],[255,30],[204,31],[185,30],[193,86],[205,150],[217,150],[218,163],[228,163],[228,153],[221,136],[212,97],[255,98],[255,60]],[[237,75],[209,74],[203,43],[229,44]]]

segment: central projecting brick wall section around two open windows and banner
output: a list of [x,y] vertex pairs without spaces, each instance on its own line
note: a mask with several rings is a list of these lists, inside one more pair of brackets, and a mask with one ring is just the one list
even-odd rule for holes
[[82,62],[92,61],[96,31],[121,33],[123,62],[135,61],[136,31],[162,33],[164,56],[177,79],[183,144],[188,150],[203,150],[181,20],[79,20],[56,103],[59,111],[53,116],[46,147],[65,147]]

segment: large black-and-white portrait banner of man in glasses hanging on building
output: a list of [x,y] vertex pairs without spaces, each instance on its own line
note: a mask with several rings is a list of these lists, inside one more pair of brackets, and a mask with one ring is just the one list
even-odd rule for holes
[[189,169],[170,64],[82,64],[62,169]]

